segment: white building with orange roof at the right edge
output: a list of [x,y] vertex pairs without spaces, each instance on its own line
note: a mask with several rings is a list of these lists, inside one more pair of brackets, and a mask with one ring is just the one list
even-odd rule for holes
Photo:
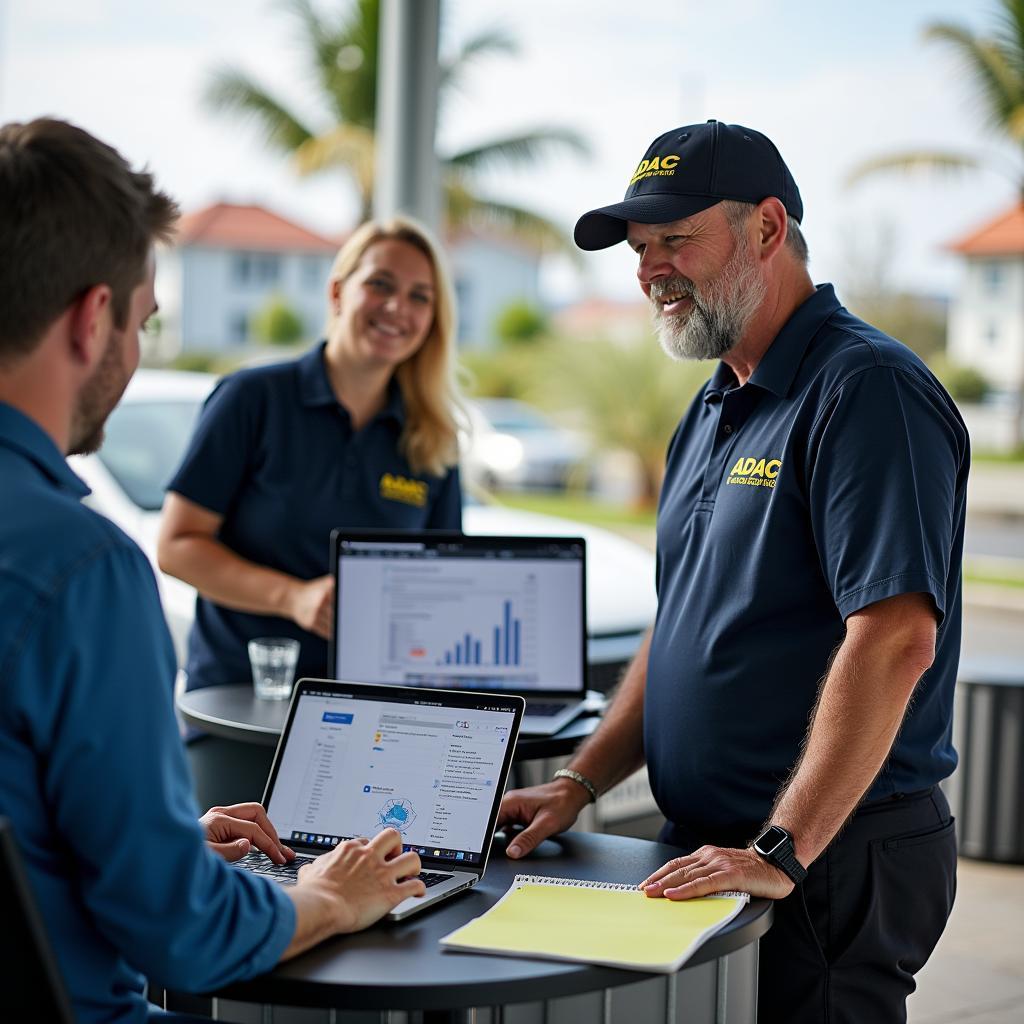
[[1016,391],[1024,378],[1024,204],[948,248],[964,257],[949,309],[949,357],[993,388]]

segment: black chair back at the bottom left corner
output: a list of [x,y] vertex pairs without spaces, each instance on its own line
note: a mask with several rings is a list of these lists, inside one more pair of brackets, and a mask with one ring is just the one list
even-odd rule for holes
[[75,1015],[14,829],[0,817],[0,1017],[74,1024]]

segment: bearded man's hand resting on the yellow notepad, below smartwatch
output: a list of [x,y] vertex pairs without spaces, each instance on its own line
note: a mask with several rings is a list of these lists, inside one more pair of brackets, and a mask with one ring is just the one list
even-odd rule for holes
[[693,899],[729,890],[781,899],[793,892],[793,882],[753,849],[731,850],[702,846],[676,857],[640,883],[647,896]]

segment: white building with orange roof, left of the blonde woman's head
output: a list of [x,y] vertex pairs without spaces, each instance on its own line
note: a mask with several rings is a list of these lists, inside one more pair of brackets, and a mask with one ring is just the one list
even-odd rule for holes
[[322,332],[338,243],[261,206],[216,203],[186,214],[157,255],[159,352],[221,351],[255,340],[253,316],[274,297]]

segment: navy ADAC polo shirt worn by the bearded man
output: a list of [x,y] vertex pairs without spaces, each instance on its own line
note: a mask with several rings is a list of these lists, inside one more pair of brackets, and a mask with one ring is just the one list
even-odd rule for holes
[[720,364],[669,447],[644,742],[670,821],[756,828],[793,769],[848,615],[934,602],[935,663],[868,799],[955,767],[970,450],[905,346],[822,286],[738,387]]

